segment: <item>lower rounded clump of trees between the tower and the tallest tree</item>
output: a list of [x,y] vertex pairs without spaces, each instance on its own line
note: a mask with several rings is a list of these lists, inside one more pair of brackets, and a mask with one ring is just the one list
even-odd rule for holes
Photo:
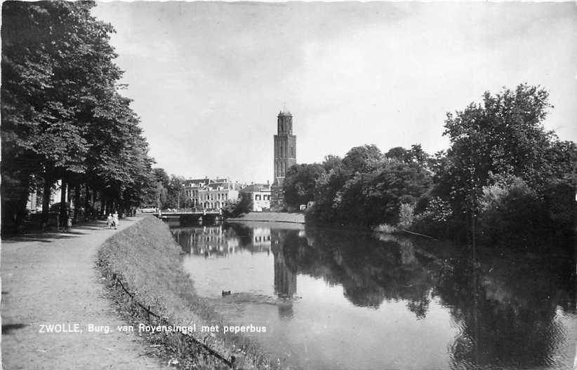
[[395,224],[402,203],[414,205],[431,184],[429,156],[420,145],[393,148],[385,156],[374,145],[357,146],[342,161],[327,158],[314,181],[319,221],[375,226]]

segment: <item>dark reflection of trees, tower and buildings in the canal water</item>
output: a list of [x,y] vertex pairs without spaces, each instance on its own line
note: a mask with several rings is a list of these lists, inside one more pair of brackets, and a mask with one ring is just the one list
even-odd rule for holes
[[[497,247],[472,253],[463,245],[353,231],[218,228],[196,229],[180,245],[194,254],[272,253],[284,320],[293,317],[297,275],[310,275],[342,286],[354,306],[376,310],[386,301],[405,302],[417,320],[438,301],[458,329],[448,348],[453,369],[555,367],[559,345],[571,339],[559,321],[560,314],[576,313],[570,240],[554,246],[567,254],[553,256]],[[207,234],[223,238],[207,241]]]

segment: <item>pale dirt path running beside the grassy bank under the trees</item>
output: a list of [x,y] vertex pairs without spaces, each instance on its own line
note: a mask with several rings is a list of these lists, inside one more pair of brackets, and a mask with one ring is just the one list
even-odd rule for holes
[[[137,221],[123,219],[119,231]],[[2,343],[4,369],[164,369],[150,347],[121,322],[95,269],[98,247],[117,231],[104,222],[70,233],[26,235],[2,241]],[[41,333],[62,324],[82,333]],[[88,325],[110,333],[88,332]],[[138,333],[138,331],[137,331]]]

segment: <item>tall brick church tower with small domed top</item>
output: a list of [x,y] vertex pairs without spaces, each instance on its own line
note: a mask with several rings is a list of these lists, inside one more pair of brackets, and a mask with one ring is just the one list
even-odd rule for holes
[[282,185],[286,171],[296,165],[296,136],[293,135],[293,115],[283,109],[277,116],[277,135],[274,135],[274,177],[271,186],[270,208],[284,208]]

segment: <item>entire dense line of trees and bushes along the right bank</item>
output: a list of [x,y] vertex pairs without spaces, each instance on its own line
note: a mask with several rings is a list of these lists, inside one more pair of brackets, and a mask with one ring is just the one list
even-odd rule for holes
[[295,165],[284,182],[286,205],[314,202],[307,221],[442,238],[573,233],[577,147],[545,131],[550,108],[539,87],[485,93],[482,103],[447,114],[446,151],[365,145]]

